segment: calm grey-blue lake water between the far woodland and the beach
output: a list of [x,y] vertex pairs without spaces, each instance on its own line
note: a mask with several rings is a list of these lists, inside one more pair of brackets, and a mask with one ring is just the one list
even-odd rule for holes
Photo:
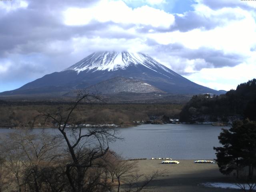
[[[120,129],[124,141],[110,144],[110,148],[124,158],[170,157],[173,159],[214,159],[214,146],[220,146],[218,135],[222,127],[211,125],[164,124],[140,125]],[[0,129],[0,134],[13,132]],[[42,129],[34,129],[40,133]],[[45,129],[52,134],[58,130]]]

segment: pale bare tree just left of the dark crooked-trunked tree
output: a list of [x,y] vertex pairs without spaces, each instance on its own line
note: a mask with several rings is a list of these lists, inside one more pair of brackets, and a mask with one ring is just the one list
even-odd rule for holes
[[18,148],[26,156],[25,184],[28,184],[30,190],[39,192],[43,183],[41,170],[61,156],[58,153],[61,141],[59,138],[42,132],[40,135],[28,133],[19,135],[17,142]]

